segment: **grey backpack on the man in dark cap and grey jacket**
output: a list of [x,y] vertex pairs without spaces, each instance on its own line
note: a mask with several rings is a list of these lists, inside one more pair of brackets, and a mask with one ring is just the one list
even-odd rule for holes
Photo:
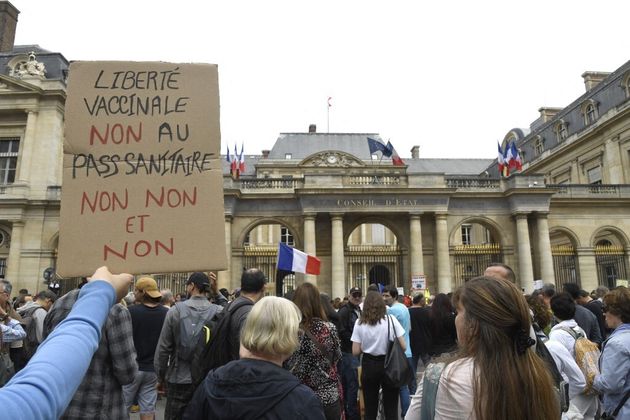
[[193,359],[195,347],[205,321],[214,317],[219,310],[217,305],[199,309],[178,302],[175,307],[179,311],[179,345],[177,357],[180,360],[190,362]]

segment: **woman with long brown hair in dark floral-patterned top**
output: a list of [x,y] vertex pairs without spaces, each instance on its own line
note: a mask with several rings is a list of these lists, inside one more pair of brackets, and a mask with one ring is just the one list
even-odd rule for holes
[[312,283],[303,283],[295,290],[293,303],[302,312],[300,345],[285,367],[315,391],[327,420],[339,420],[342,405],[337,362],[341,360],[341,347],[337,329],[327,322],[319,290]]

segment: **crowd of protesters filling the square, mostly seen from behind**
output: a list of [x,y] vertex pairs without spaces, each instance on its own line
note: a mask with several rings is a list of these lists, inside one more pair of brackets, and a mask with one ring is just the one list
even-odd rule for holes
[[331,300],[308,282],[265,297],[266,281],[246,270],[230,294],[193,273],[173,295],[142,277],[129,292],[101,267],[59,299],[11,300],[0,280],[3,416],[149,420],[166,398],[166,419],[630,418],[626,287],[524,295],[504,264],[429,299],[372,284]]

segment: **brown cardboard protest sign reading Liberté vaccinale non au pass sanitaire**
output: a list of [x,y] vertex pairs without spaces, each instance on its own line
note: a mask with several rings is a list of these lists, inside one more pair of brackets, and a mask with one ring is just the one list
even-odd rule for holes
[[227,266],[216,65],[74,62],[57,272]]

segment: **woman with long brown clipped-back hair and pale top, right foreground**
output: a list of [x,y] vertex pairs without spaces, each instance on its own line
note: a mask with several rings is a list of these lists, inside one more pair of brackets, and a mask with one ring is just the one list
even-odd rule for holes
[[419,419],[429,405],[436,420],[560,418],[553,380],[531,347],[529,309],[516,286],[477,277],[453,301],[459,353],[436,375],[437,388],[426,381],[418,387],[405,418]]

